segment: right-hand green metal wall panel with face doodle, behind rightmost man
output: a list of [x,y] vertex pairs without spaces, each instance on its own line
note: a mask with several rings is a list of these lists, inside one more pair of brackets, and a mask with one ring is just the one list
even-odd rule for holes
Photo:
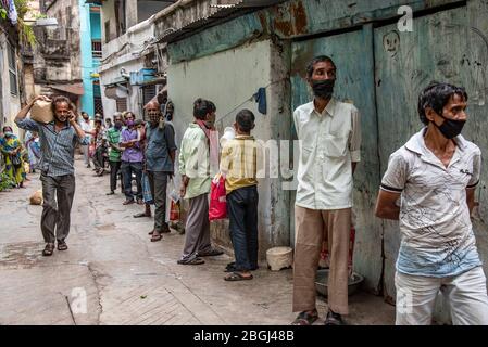
[[[485,17],[485,21],[478,21]],[[420,91],[430,80],[464,86],[470,95],[470,119],[463,134],[488,153],[488,7],[486,1],[471,1],[467,7],[441,11],[414,20],[413,33],[398,33],[396,25],[375,29],[377,117],[379,126],[380,172],[389,155],[401,146],[421,124],[416,111]],[[484,260],[488,257],[486,182],[483,165],[477,191],[480,215],[475,233]],[[385,295],[395,296],[393,273],[400,235],[398,223],[385,222]],[[487,270],[485,261],[485,270]]]

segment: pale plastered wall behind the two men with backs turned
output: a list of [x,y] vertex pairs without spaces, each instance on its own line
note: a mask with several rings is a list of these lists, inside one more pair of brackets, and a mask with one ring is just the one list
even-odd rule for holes
[[[187,126],[192,121],[192,103],[197,98],[212,100],[217,107],[217,129],[232,126],[239,110],[249,108],[256,116],[253,136],[267,141],[280,126],[287,128],[289,118],[276,123],[283,108],[277,89],[268,88],[267,115],[258,112],[258,104],[248,101],[260,87],[266,87],[272,81],[272,60],[276,50],[270,40],[243,44],[234,50],[221,52],[211,56],[173,64],[168,68],[168,97],[175,104],[175,130],[182,139]],[[237,110],[236,106],[240,105]],[[179,144],[178,144],[179,145]],[[289,242],[288,220],[281,214],[277,191],[280,190],[279,179],[263,179],[260,181],[259,230],[260,253],[264,256],[273,245],[286,245]],[[287,193],[286,193],[287,194]],[[283,206],[281,206],[283,207]],[[286,213],[285,213],[286,214]],[[212,223],[213,239],[232,248],[226,221]]]

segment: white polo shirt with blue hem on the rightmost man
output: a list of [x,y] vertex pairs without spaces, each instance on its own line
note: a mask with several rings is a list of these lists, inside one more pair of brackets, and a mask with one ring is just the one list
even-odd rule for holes
[[446,167],[424,142],[426,128],[391,154],[381,190],[401,193],[397,270],[443,278],[480,266],[466,203],[479,181],[481,151],[462,136]]

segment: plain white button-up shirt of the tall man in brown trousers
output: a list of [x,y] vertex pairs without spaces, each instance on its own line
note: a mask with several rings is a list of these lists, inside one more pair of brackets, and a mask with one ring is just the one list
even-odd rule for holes
[[352,206],[351,163],[361,160],[358,108],[331,99],[318,113],[312,102],[293,113],[300,140],[296,205],[310,209]]

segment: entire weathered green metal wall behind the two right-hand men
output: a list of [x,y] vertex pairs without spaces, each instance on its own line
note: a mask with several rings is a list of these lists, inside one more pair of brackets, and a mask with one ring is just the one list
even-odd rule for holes
[[[463,132],[488,152],[488,4],[441,10],[414,18],[412,33],[400,33],[397,23],[292,43],[292,105],[310,100],[303,80],[306,62],[327,54],[338,65],[337,95],[349,99],[362,113],[363,163],[354,190],[356,249],[354,268],[378,287],[384,271],[384,295],[395,300],[395,261],[400,244],[397,222],[379,221],[373,215],[379,180],[389,155],[400,147],[421,124],[416,102],[420,91],[433,79],[465,86],[470,94],[470,121]],[[486,162],[477,200],[479,214],[474,228],[480,256],[488,258]],[[383,227],[381,227],[383,226]],[[381,249],[383,239],[383,249]],[[381,253],[384,255],[381,256]]]

